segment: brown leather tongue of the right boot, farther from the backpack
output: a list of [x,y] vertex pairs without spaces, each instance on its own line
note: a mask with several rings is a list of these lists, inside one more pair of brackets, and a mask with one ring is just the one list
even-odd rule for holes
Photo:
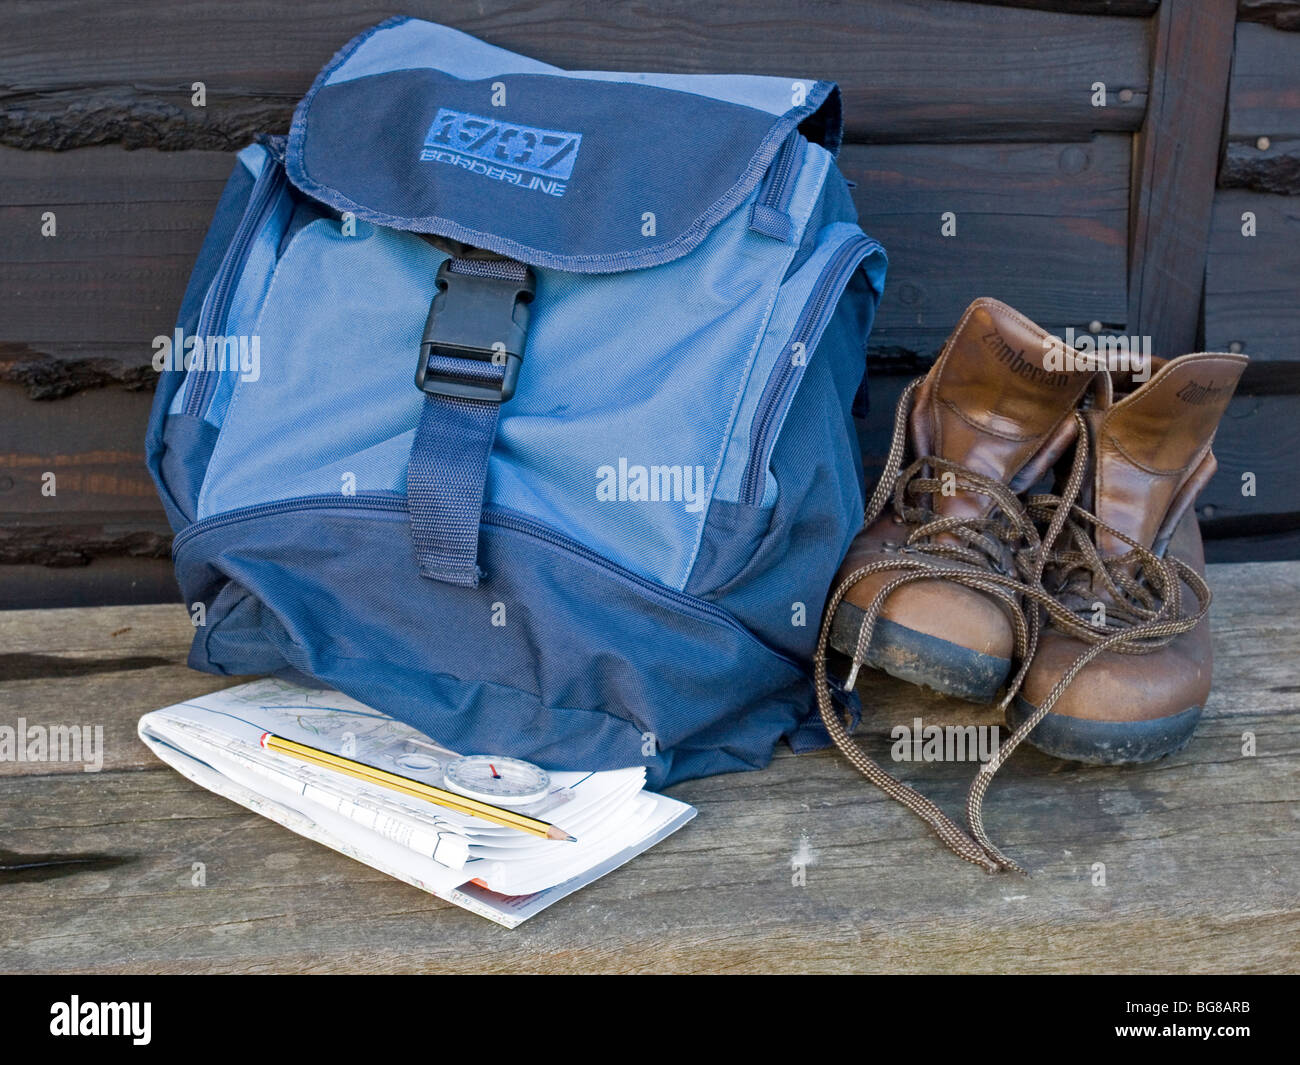
[[[1144,547],[1164,538],[1213,473],[1210,443],[1249,360],[1183,355],[1096,420],[1093,514]],[[1128,545],[1097,529],[1104,555]]]

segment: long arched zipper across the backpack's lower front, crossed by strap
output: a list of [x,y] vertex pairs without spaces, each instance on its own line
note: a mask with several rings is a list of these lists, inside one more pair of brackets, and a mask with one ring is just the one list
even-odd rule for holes
[[[247,521],[254,518],[266,518],[277,514],[289,514],[292,511],[303,510],[316,510],[316,508],[332,508],[332,510],[373,510],[373,511],[386,511],[390,514],[406,514],[407,501],[400,495],[350,495],[346,499],[339,495],[302,495],[296,499],[278,499],[274,503],[259,503],[251,507],[243,507],[240,510],[233,510],[229,514],[217,515],[214,518],[205,518],[202,521],[196,521],[192,525],[186,527],[176,538],[172,541],[172,558],[176,559],[181,550],[188,544],[194,537],[211,532],[212,529],[220,529],[225,525],[234,525],[239,521]],[[712,620],[720,622],[722,624],[732,628],[737,632],[742,632],[750,640],[762,646],[766,651],[775,654],[783,662],[788,663],[792,668],[798,670],[798,672],[806,676],[806,671],[792,658],[781,654],[780,651],[770,648],[753,632],[750,632],[745,625],[737,622],[731,614],[719,606],[698,599],[694,596],[688,596],[685,592],[679,592],[675,588],[668,588],[667,585],[656,584],[647,577],[642,577],[638,573],[633,573],[630,570],[624,570],[615,562],[604,558],[604,555],[593,551],[576,540],[571,540],[563,533],[555,532],[555,529],[549,525],[543,525],[541,521],[534,521],[530,518],[524,518],[521,514],[515,514],[514,511],[485,508],[482,514],[482,524],[495,525],[497,528],[510,529],[512,532],[524,533],[534,540],[541,540],[545,544],[551,545],[562,551],[597,566],[614,577],[623,580],[625,583],[633,584],[637,588],[644,589],[651,596],[656,596],[660,599],[667,599],[668,602],[681,607],[688,612],[693,612],[697,616],[706,616]]]

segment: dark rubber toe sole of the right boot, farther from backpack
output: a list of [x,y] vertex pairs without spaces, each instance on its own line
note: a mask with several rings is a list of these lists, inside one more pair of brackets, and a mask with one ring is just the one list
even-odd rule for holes
[[[1018,696],[1006,709],[1006,723],[1013,730],[1019,728],[1034,710]],[[1154,762],[1180,750],[1192,739],[1200,719],[1200,706],[1147,722],[1096,722],[1049,713],[1024,739],[1044,754],[1067,762],[1123,766]]]

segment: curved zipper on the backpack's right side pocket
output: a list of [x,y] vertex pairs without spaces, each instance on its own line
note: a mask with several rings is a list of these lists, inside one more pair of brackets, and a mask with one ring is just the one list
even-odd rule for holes
[[[754,412],[753,428],[750,430],[749,459],[745,466],[745,477],[741,482],[740,502],[757,506],[763,493],[763,484],[767,472],[766,456],[771,447],[771,436],[777,424],[777,415],[785,404],[792,384],[800,377],[800,368],[793,358],[793,347],[803,345],[803,360],[812,356],[810,348],[812,339],[819,337],[826,329],[838,303],[838,296],[844,291],[853,272],[863,259],[875,251],[880,251],[880,243],[870,237],[854,237],[831,257],[822,273],[818,276],[812,290],[812,298],[805,304],[794,332],[790,334],[785,351],[777,362],[776,372],[767,380],[762,397],[758,401],[758,410]],[[835,296],[832,299],[832,296]]]

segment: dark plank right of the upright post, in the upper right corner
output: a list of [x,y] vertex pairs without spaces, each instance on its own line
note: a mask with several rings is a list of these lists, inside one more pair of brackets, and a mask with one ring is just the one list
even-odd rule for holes
[[1238,26],[1219,186],[1300,194],[1300,35]]

